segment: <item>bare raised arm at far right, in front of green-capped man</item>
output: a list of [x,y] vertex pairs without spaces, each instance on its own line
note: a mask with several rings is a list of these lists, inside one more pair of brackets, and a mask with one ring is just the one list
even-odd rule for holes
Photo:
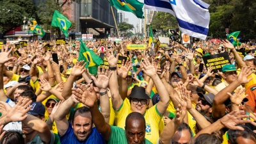
[[224,102],[228,99],[229,95],[227,93],[232,93],[238,86],[244,83],[248,83],[252,78],[247,79],[248,76],[252,74],[252,68],[243,67],[237,79],[229,84],[226,88],[217,93],[213,99],[212,104],[212,116],[214,118],[221,118],[225,115],[225,104]]

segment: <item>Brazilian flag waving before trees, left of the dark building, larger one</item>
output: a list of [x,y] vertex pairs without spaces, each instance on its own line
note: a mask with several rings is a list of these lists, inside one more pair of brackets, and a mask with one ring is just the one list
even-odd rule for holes
[[60,30],[63,31],[64,35],[67,37],[68,28],[70,28],[71,24],[72,23],[67,19],[67,17],[58,12],[58,10],[54,10],[51,26],[60,28]]

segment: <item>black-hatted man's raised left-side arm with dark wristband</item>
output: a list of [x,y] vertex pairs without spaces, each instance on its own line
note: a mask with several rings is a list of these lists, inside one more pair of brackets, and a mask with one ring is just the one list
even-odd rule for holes
[[108,59],[108,63],[109,63],[109,70],[112,72],[112,75],[109,79],[109,89],[111,92],[111,97],[112,97],[111,100],[112,100],[113,108],[117,110],[120,108],[120,106],[123,103],[123,100],[119,95],[119,91],[118,91],[117,72],[115,69],[118,61],[118,54],[116,54],[116,57],[115,57],[112,49],[110,51],[111,52],[106,53],[106,58]]

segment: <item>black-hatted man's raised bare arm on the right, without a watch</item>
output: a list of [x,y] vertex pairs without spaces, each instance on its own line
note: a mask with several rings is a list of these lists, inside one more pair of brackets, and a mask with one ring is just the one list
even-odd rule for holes
[[163,115],[168,107],[170,98],[164,84],[157,76],[157,66],[154,67],[147,59],[141,61],[141,65],[143,65],[143,72],[145,72],[147,76],[151,77],[152,81],[156,85],[156,89],[160,97],[160,100],[157,103],[157,110],[161,115]]

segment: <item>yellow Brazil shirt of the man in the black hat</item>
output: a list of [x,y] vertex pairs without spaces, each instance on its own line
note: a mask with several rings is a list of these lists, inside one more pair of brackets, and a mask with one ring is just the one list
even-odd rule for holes
[[[157,110],[157,104],[147,109],[144,118],[146,121],[146,135],[145,138],[151,143],[157,143],[159,139],[159,123],[161,122],[162,115]],[[131,113],[131,106],[128,99],[125,99],[120,108],[115,111],[116,115],[116,126],[124,129],[125,119],[129,113]]]

